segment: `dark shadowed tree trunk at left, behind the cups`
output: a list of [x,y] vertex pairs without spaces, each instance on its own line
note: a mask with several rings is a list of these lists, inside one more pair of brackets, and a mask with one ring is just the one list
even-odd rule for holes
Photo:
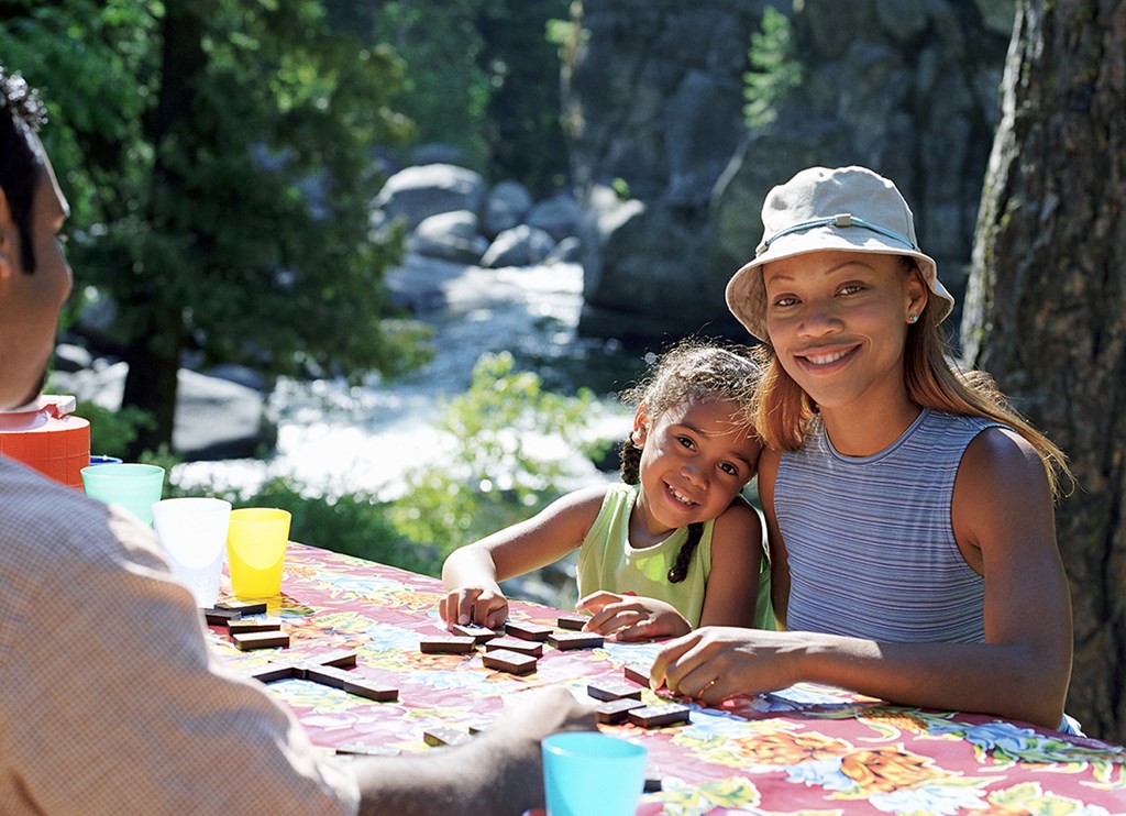
[[[138,429],[129,450],[134,458],[161,446],[171,448],[172,443],[185,325],[182,305],[163,285],[176,276],[162,269],[162,255],[167,258],[168,246],[176,245],[175,236],[186,227],[176,223],[177,208],[171,205],[182,195],[182,170],[170,167],[166,158],[169,152],[191,156],[203,138],[193,126],[193,115],[197,87],[207,68],[203,41],[212,6],[204,0],[167,0],[164,3],[160,99],[152,124],[155,161],[149,212],[150,235],[157,239],[142,252],[143,268],[134,302],[129,304],[144,315],[145,324],[126,350],[129,370],[122,395],[123,405],[144,410],[154,424]],[[169,141],[176,143],[171,151],[167,147]],[[189,165],[194,163],[189,161]],[[168,236],[173,239],[169,241]]]

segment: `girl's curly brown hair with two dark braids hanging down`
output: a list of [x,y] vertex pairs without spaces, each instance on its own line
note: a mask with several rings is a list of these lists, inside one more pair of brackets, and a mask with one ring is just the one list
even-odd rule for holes
[[[754,406],[754,393],[761,368],[742,346],[717,344],[690,338],[671,346],[658,359],[649,375],[619,394],[627,405],[645,403],[650,423],[671,407],[686,402],[730,401],[736,422],[747,421]],[[622,481],[641,482],[642,447],[627,436],[622,445]],[[688,564],[704,535],[704,522],[688,526],[688,538],[680,546],[677,562],[669,570],[669,582],[680,583],[688,575]]]

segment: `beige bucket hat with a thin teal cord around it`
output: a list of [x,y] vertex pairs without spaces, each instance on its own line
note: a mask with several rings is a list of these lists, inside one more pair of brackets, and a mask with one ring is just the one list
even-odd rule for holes
[[763,263],[790,255],[844,250],[909,255],[930,290],[941,321],[954,297],[938,280],[935,260],[919,250],[911,208],[895,185],[861,167],[808,168],[770,190],[762,203],[762,241],[754,259],[727,283],[727,307],[747,330],[767,340]]

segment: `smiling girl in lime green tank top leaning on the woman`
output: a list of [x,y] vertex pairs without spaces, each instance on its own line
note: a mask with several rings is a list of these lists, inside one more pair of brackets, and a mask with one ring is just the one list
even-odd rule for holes
[[771,622],[763,528],[740,495],[760,452],[748,423],[759,370],[697,341],[668,351],[623,394],[636,405],[622,449],[625,484],[575,491],[452,553],[441,617],[497,628],[508,617],[500,581],[579,548],[587,630],[647,639],[701,624]]

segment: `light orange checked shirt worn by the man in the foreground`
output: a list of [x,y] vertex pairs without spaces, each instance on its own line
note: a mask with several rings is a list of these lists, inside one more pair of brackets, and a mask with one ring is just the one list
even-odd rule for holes
[[0,458],[0,810],[355,814],[126,513]]

